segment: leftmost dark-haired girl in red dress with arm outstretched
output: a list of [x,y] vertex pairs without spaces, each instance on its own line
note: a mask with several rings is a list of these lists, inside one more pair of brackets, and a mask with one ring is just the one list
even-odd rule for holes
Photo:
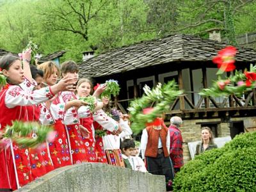
[[[58,84],[28,92],[22,90],[18,84],[24,81],[24,71],[22,70],[21,61],[19,58],[7,55],[0,61],[0,68],[3,75],[7,77],[8,84],[0,93],[0,122],[1,130],[4,130],[6,125],[12,125],[13,120],[28,120],[26,106],[38,104],[51,99],[54,94],[67,90],[72,82],[72,79],[63,79]],[[19,153],[15,156],[17,145],[10,143],[4,150],[0,152],[0,188],[17,189],[24,184],[27,184],[31,177],[31,167],[29,164],[28,150],[24,153]],[[21,157],[22,156],[22,157]],[[27,164],[19,159],[26,159]],[[17,172],[19,168],[20,172]],[[18,174],[19,173],[19,174]]]

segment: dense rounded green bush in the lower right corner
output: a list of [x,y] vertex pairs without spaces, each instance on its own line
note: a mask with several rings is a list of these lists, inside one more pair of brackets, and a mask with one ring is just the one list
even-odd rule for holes
[[177,173],[173,191],[256,191],[256,132],[196,156]]

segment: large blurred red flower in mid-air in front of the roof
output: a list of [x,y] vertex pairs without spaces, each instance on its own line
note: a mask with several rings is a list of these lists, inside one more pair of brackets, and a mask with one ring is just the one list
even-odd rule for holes
[[225,47],[218,52],[218,56],[212,59],[212,62],[217,64],[218,68],[220,68],[221,72],[232,71],[236,68],[235,63],[235,55],[237,49],[233,46]]

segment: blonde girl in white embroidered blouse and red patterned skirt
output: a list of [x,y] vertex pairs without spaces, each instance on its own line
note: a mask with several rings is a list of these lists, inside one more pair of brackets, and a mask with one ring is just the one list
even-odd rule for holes
[[[52,85],[56,83],[60,75],[60,70],[53,61],[42,63],[38,68],[42,69],[44,72],[44,84]],[[67,104],[53,104],[52,100],[54,99],[55,97],[40,106],[42,113],[40,120],[44,125],[53,125],[54,131],[57,133],[55,140],[48,143],[48,148],[54,168],[60,168],[72,164],[68,136],[65,125],[62,123],[65,108],[67,109],[68,105],[80,106],[81,101],[72,100],[67,102]]]

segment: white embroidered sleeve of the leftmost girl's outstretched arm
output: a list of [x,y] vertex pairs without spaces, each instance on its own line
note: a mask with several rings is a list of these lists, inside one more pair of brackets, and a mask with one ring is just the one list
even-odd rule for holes
[[6,91],[4,102],[7,108],[14,108],[15,106],[31,106],[49,100],[54,95],[50,87],[45,87],[33,92],[25,92],[20,86],[10,86]]

